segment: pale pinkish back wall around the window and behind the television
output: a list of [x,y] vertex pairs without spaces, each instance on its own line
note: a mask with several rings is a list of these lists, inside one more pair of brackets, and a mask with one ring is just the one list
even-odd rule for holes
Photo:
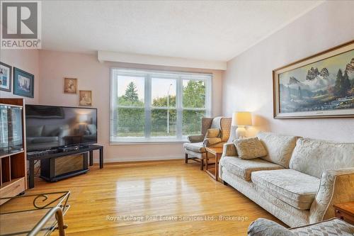
[[93,107],[98,108],[98,142],[105,146],[107,161],[135,161],[148,159],[183,158],[178,144],[114,145],[109,143],[110,67],[140,69],[171,69],[183,72],[212,72],[212,114],[222,113],[222,72],[210,69],[156,67],[138,64],[98,62],[96,55],[69,52],[40,51],[40,104],[78,106],[78,97],[63,94],[63,78],[79,79],[79,89],[92,90]]

